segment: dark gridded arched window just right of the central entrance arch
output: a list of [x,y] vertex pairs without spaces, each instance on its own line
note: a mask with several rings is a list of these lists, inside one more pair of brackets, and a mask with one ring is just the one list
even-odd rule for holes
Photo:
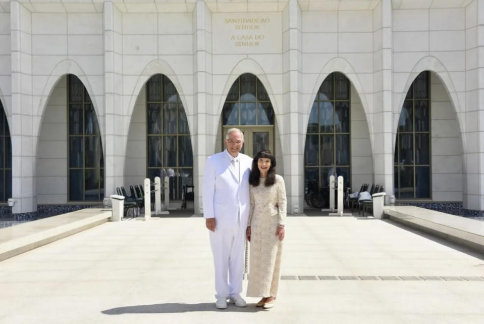
[[322,82],[312,105],[304,150],[306,192],[329,186],[330,175],[342,175],[350,186],[350,82],[334,72]]

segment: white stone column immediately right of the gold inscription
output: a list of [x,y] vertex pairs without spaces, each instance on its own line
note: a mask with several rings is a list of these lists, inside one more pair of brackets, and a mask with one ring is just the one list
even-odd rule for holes
[[302,23],[301,8],[290,0],[283,11],[283,106],[278,116],[284,160],[288,213],[302,213],[304,208],[304,134],[307,123],[302,108]]

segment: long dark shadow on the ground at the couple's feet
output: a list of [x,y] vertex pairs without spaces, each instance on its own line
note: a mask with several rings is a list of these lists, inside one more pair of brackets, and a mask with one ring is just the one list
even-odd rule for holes
[[228,307],[226,309],[217,309],[215,308],[214,303],[199,303],[199,304],[165,303],[165,304],[117,307],[117,308],[102,310],[101,313],[106,315],[121,315],[121,314],[186,313],[186,312],[200,312],[200,311],[255,313],[258,311],[264,311],[264,309],[255,307],[254,304],[247,305],[247,307],[237,307],[237,306],[228,304]]

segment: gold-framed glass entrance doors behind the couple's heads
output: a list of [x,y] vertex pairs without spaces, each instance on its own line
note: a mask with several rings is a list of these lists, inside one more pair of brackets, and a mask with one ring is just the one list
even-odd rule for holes
[[[225,135],[227,130],[234,126],[224,126],[224,148],[225,148]],[[247,154],[250,157],[262,150],[271,150],[274,154],[274,126],[236,126],[244,133],[244,146],[240,152]]]

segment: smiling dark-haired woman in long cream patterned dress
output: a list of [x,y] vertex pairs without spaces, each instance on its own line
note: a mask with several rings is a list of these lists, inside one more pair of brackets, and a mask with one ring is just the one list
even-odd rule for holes
[[271,308],[276,300],[282,240],[286,224],[286,187],[276,174],[271,151],[254,156],[250,183],[250,213],[247,240],[250,242],[250,269],[247,296],[262,297],[257,307]]

